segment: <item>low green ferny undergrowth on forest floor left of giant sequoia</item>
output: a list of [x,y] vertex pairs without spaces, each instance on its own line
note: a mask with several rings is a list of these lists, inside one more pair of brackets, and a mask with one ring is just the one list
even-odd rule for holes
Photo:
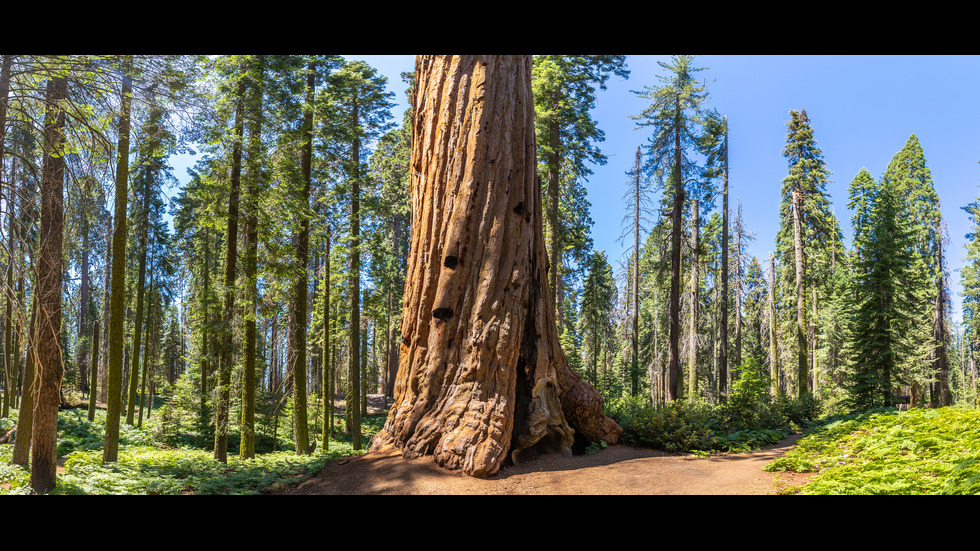
[[[160,431],[147,420],[143,429],[120,424],[118,460],[103,465],[104,416],[100,411],[96,420],[89,422],[84,410],[59,413],[58,455],[65,458],[65,472],[59,473],[52,494],[260,494],[298,484],[327,462],[364,451],[354,451],[347,435],[338,430],[338,439],[330,441],[327,451],[319,442],[310,455],[274,451],[241,460],[237,449],[233,449],[224,464],[216,461],[208,449],[161,443]],[[384,417],[362,417],[361,422],[367,448]],[[237,446],[236,438],[230,436],[229,440],[235,440]],[[30,471],[11,465],[12,453],[11,444],[0,445],[0,493],[30,493]]]

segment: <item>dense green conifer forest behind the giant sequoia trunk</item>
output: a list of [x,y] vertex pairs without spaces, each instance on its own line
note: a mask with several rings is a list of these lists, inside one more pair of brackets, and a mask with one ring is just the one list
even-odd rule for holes
[[[360,449],[368,396],[393,393],[412,221],[410,110],[392,115],[387,78],[340,56],[0,58],[0,417],[17,408],[30,425],[24,389],[53,369],[38,320],[59,304],[57,403],[139,425],[166,400],[171,430],[194,426],[219,461],[229,427],[243,458],[284,425],[306,453],[335,426],[328,403],[357,404],[343,426]],[[792,110],[779,232],[767,258],[749,254],[727,120],[698,70],[675,56],[637,90],[649,103],[635,150],[617,152],[634,160],[621,218],[594,221],[583,183],[607,152],[591,112],[627,58],[534,57],[549,286],[572,368],[607,401],[715,404],[754,385],[828,411],[975,405],[978,202],[957,205],[974,229],[954,316],[960,253],[916,136],[831,198],[820,129]],[[179,185],[171,160],[190,150]],[[61,191],[46,176],[58,163]],[[45,197],[63,212],[55,245]],[[595,250],[595,224],[622,224],[624,262]],[[41,293],[53,276],[55,299]],[[106,461],[118,431],[108,423]]]

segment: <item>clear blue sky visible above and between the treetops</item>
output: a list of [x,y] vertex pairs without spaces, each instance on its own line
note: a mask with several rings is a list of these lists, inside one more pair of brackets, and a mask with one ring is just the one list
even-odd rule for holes
[[[413,55],[349,55],[388,77],[398,106],[406,108],[400,73],[414,70]],[[593,117],[605,132],[599,144],[608,163],[595,166],[586,183],[592,204],[595,248],[614,262],[631,157],[649,129],[631,115],[645,106],[633,90],[657,86],[664,75],[657,61],[670,56],[628,56],[627,80],[611,77],[600,92]],[[703,55],[695,65],[708,84],[707,106],[728,117],[730,205],[742,202],[747,229],[755,233],[749,254],[768,258],[778,228],[779,190],[787,165],[781,152],[791,109],[806,109],[818,146],[831,172],[827,190],[850,243],[847,186],[863,167],[880,177],[911,134],[918,136],[949,227],[947,261],[959,318],[959,273],[969,219],[960,208],[980,195],[980,56],[884,55]],[[177,174],[183,178],[183,170]],[[720,206],[721,200],[718,199]]]

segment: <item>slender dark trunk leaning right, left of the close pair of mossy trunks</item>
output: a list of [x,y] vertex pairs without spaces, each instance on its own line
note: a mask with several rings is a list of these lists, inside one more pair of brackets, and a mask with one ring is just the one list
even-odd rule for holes
[[224,313],[218,348],[218,384],[215,387],[214,458],[228,462],[228,420],[231,408],[232,325],[235,319],[235,264],[238,258],[238,202],[242,177],[242,134],[245,84],[239,81],[235,108],[235,138],[231,152],[228,190],[228,229],[225,238]]

